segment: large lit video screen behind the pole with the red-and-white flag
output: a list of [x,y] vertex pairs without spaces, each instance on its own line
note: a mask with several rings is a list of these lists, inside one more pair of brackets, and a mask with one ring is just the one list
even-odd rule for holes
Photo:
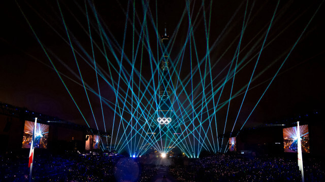
[[[25,121],[22,148],[30,148],[35,122]],[[49,125],[37,123],[35,129],[35,148],[46,149]]]

